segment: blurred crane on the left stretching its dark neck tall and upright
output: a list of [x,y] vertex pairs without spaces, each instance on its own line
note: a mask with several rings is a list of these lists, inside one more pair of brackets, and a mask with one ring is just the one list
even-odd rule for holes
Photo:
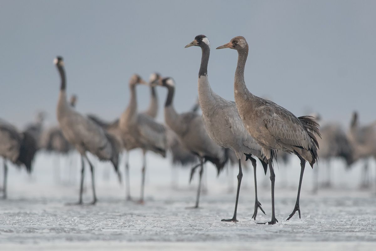
[[94,166],[88,159],[86,152],[96,155],[99,160],[111,161],[121,181],[121,175],[118,169],[120,143],[112,135],[108,134],[100,126],[94,123],[91,119],[74,110],[67,102],[66,94],[66,80],[64,61],[61,56],[54,60],[60,78],[60,93],[56,115],[58,117],[59,126],[63,132],[64,137],[68,142],[76,148],[81,155],[81,181],[80,181],[80,194],[79,201],[75,204],[82,204],[83,192],[83,178],[85,174],[84,159],[88,161],[91,170],[91,184],[93,192],[93,201],[91,204],[96,204],[97,196],[95,192],[94,182]]

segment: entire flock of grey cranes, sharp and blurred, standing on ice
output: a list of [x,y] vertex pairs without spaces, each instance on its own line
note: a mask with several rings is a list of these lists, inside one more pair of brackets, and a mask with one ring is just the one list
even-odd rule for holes
[[[359,126],[358,114],[354,113],[349,132],[345,132],[337,124],[327,124],[320,128],[319,116],[297,117],[284,107],[258,97],[250,92],[244,78],[244,69],[249,46],[244,37],[238,36],[229,43],[216,49],[234,49],[238,52],[237,67],[234,73],[234,100],[226,100],[215,93],[217,83],[209,84],[208,64],[210,42],[205,35],[198,35],[185,48],[197,46],[201,48],[201,63],[198,73],[198,102],[192,110],[179,113],[174,108],[174,96],[178,85],[172,77],[163,77],[152,73],[149,82],[139,75],[129,79],[130,97],[128,105],[117,119],[107,122],[96,114],[81,114],[75,108],[76,96],[67,101],[67,81],[64,59],[57,56],[54,64],[60,77],[60,90],[57,101],[56,116],[58,126],[43,130],[44,113],[38,114],[36,123],[30,124],[23,132],[18,131],[11,123],[0,119],[0,156],[3,158],[4,179],[3,198],[7,197],[8,164],[10,161],[17,166],[25,166],[28,173],[32,171],[36,153],[44,149],[47,152],[67,154],[77,151],[81,157],[81,176],[79,200],[73,204],[83,204],[83,182],[85,177],[85,161],[90,167],[92,184],[92,202],[96,204],[95,168],[87,153],[109,161],[114,167],[119,182],[122,182],[120,155],[125,152],[124,165],[126,200],[132,200],[130,192],[129,157],[133,149],[143,152],[141,167],[141,194],[138,203],[145,203],[145,176],[147,153],[154,152],[162,158],[171,153],[171,163],[191,168],[190,180],[194,171],[199,168],[199,184],[196,203],[198,208],[202,190],[202,175],[206,162],[212,163],[218,175],[231,159],[237,159],[237,193],[232,218],[222,219],[237,222],[238,202],[243,178],[243,157],[250,160],[253,166],[255,204],[252,218],[256,220],[258,209],[266,214],[258,199],[256,179],[256,163],[259,160],[266,175],[270,172],[271,183],[271,220],[260,224],[276,224],[275,213],[275,180],[274,162],[280,156],[284,161],[288,154],[294,154],[300,160],[300,178],[297,189],[296,203],[287,220],[296,212],[301,218],[300,192],[308,163],[314,168],[320,157],[328,164],[327,186],[330,185],[330,160],[343,158],[349,167],[355,161],[376,157],[376,124]],[[221,83],[223,84],[223,83]],[[230,84],[230,83],[228,83]],[[138,111],[136,90],[139,85],[150,88],[150,105],[144,112]],[[164,123],[157,122],[159,112],[156,88],[166,90],[164,102]],[[197,113],[201,109],[202,115]],[[319,146],[321,148],[319,148]],[[149,163],[152,165],[152,163]],[[315,172],[317,167],[315,166]],[[369,186],[368,165],[365,164],[362,186]],[[317,174],[315,175],[317,178]],[[314,191],[317,191],[317,180]]]

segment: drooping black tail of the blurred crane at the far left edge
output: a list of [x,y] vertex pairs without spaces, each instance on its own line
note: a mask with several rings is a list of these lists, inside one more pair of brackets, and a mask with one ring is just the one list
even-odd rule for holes
[[27,172],[31,173],[34,156],[38,150],[36,140],[29,132],[23,132],[21,138],[20,154],[17,162],[24,164]]

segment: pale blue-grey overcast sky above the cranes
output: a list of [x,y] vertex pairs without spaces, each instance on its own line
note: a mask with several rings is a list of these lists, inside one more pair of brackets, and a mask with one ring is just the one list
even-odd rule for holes
[[[214,50],[244,36],[246,84],[302,116],[376,119],[376,1],[4,1],[0,0],[0,117],[22,128],[36,111],[56,123],[64,57],[67,91],[77,110],[118,117],[133,73],[160,72],[176,81],[174,105],[186,111],[197,97],[201,50],[184,49],[196,35],[211,43],[212,88],[233,100],[237,52]],[[139,109],[149,90],[139,86]],[[166,91],[158,89],[160,104]],[[162,110],[161,110],[162,111]],[[159,113],[163,121],[163,113]]]

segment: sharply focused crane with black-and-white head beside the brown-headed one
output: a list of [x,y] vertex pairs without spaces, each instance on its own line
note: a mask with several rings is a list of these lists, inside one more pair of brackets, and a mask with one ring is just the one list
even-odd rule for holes
[[223,99],[216,94],[208,80],[208,62],[210,54],[210,43],[205,35],[198,35],[195,39],[187,44],[185,48],[191,46],[199,46],[202,50],[201,65],[199,70],[199,102],[202,111],[202,120],[205,125],[206,132],[209,137],[214,140],[218,145],[232,149],[237,158],[239,164],[239,174],[237,195],[235,200],[235,211],[231,219],[222,219],[222,221],[237,222],[237,208],[240,192],[241,180],[243,177],[243,171],[241,167],[241,156],[245,154],[249,158],[253,165],[255,176],[255,210],[252,218],[256,220],[258,208],[265,214],[265,211],[261,207],[261,203],[257,197],[257,180],[256,180],[256,159],[252,157],[254,155],[258,158],[267,172],[267,159],[262,152],[261,146],[248,134],[246,128],[244,128],[243,122],[240,119],[238,109],[235,102]]

